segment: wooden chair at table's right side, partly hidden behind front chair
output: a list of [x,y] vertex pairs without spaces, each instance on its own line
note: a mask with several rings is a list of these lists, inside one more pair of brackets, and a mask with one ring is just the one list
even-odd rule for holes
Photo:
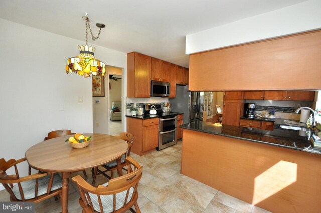
[[[121,167],[124,167],[125,165],[125,158],[130,156],[130,149],[132,146],[132,143],[134,141],[134,136],[128,132],[121,132],[119,137],[126,141],[128,144],[128,148],[127,151],[124,155],[121,156]],[[107,177],[108,179],[112,179],[114,178],[114,171],[117,170],[117,162],[116,160],[111,161],[107,164],[102,165],[101,167],[103,167],[105,170],[100,170],[97,167],[95,167],[94,169],[92,169],[92,184],[95,184],[96,181],[96,177],[97,177],[97,173],[104,175],[105,177]],[[124,170],[126,170],[126,168],[123,168]],[[106,174],[106,172],[110,171],[110,176]]]

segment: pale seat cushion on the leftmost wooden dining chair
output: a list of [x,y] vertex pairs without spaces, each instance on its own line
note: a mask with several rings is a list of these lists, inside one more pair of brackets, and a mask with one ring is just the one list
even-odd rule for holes
[[[50,176],[51,175],[47,175],[38,179],[38,196],[47,193]],[[36,197],[36,179],[21,182],[21,187],[23,188],[25,199],[32,199]],[[54,181],[51,186],[51,191],[59,189],[61,187],[62,179],[58,174],[55,174]],[[18,184],[15,184],[12,190],[16,195],[17,199],[22,200]]]

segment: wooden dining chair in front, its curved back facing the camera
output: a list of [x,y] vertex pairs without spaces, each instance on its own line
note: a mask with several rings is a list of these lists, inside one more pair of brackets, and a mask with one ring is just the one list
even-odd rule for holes
[[137,186],[143,166],[131,157],[125,158],[125,164],[127,174],[111,179],[98,187],[90,185],[80,175],[72,178],[80,192],[79,203],[83,212],[125,212],[128,209],[132,212],[140,212],[137,204]]

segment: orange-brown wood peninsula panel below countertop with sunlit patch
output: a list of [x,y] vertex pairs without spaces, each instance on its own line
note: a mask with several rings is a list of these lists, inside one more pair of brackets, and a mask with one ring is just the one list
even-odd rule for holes
[[184,129],[182,173],[271,212],[318,213],[320,157]]

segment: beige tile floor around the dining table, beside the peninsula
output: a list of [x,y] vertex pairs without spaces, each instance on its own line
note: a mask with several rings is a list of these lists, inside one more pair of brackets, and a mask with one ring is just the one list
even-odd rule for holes
[[[131,156],[144,166],[138,187],[138,205],[141,212],[269,212],[181,174],[181,149],[182,141],[179,141],[174,146],[161,151],[153,151],[144,156],[131,153]],[[78,174],[82,175],[82,172],[78,172]],[[89,176],[88,182],[91,183],[90,169],[87,174]],[[77,174],[72,174],[72,176],[74,175]],[[98,175],[95,185],[105,181],[107,179]],[[69,186],[69,212],[81,212],[77,188],[71,182]],[[10,201],[9,193],[6,190],[0,191],[0,201]],[[53,198],[36,205],[37,213],[60,211],[60,201],[55,201]]]

